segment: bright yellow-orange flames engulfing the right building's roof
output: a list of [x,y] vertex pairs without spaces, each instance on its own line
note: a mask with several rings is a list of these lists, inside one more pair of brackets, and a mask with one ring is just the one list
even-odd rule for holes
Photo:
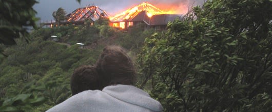
[[124,19],[129,19],[129,18],[136,16],[141,11],[146,11],[146,14],[148,17],[152,17],[153,15],[157,15],[157,14],[174,14],[175,13],[174,11],[160,10],[160,9],[154,7],[153,5],[144,2],[138,6],[130,8],[120,14],[117,14],[114,17],[110,17],[110,20],[111,21],[123,21]]

